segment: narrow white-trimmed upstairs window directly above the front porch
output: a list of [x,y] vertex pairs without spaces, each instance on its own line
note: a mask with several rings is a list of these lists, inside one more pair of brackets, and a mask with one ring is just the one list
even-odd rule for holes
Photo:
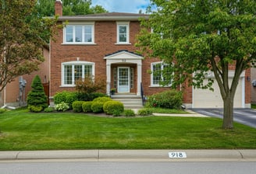
[[116,44],[130,44],[130,25],[129,23],[117,23]]

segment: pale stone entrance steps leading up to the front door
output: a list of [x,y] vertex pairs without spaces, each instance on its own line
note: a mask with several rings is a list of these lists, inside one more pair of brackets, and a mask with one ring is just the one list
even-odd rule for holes
[[122,102],[125,109],[140,109],[143,108],[142,99],[136,94],[115,94],[111,98]]

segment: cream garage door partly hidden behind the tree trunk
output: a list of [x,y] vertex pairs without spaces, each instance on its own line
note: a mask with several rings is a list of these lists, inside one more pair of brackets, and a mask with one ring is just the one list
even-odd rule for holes
[[[232,78],[229,79],[229,84],[231,84],[231,82]],[[234,107],[236,108],[243,107],[242,82],[243,80],[240,78],[234,98]],[[223,108],[223,101],[218,83],[214,82],[212,87],[214,92],[209,89],[193,89],[193,108]]]

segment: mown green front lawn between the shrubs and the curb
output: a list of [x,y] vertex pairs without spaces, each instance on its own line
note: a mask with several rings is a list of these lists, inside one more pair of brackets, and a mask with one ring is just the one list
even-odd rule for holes
[[99,117],[84,113],[0,114],[0,150],[256,148],[256,129],[201,117]]

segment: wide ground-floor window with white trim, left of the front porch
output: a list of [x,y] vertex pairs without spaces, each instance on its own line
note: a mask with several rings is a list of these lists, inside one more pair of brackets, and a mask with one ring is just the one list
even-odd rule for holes
[[89,61],[62,63],[62,86],[75,86],[76,80],[87,75],[94,76],[94,67],[94,63]]

